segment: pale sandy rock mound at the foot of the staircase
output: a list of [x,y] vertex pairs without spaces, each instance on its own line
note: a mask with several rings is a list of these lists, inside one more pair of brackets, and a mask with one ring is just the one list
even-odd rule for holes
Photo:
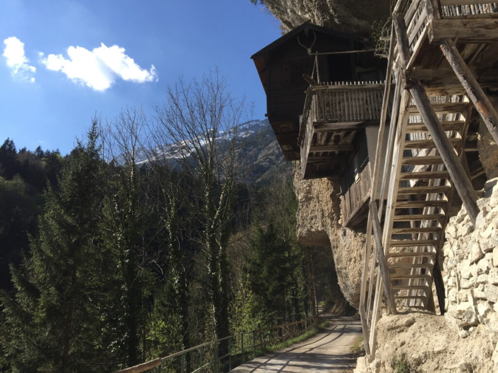
[[[407,313],[384,316],[377,328],[375,359],[358,359],[355,372],[395,373],[403,365],[409,372],[490,373],[493,370],[493,341],[484,325],[462,340],[443,316]],[[397,369],[396,369],[397,366]]]

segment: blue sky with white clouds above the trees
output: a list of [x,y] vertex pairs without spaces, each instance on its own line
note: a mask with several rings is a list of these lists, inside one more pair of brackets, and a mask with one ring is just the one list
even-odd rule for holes
[[279,36],[279,22],[249,0],[2,0],[0,141],[66,154],[95,113],[151,112],[180,74],[214,66],[262,119],[249,57]]

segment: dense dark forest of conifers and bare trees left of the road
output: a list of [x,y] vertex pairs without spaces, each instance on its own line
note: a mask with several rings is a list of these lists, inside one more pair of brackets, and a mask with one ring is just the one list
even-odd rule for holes
[[211,76],[64,157],[3,143],[3,371],[111,372],[332,305],[330,251],[297,242],[289,166],[242,109]]

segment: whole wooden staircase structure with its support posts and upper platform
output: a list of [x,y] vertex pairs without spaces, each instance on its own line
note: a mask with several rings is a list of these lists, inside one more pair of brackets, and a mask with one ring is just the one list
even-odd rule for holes
[[[434,311],[435,285],[444,312],[438,255],[455,192],[472,223],[479,213],[462,159],[477,150],[468,133],[473,110],[498,143],[498,112],[480,86],[498,88],[498,3],[492,5],[397,0],[394,6],[386,74],[394,84],[385,86],[380,115],[359,305],[367,355],[375,354],[381,308]],[[462,35],[462,19],[492,26],[484,35],[473,33],[477,28]]]

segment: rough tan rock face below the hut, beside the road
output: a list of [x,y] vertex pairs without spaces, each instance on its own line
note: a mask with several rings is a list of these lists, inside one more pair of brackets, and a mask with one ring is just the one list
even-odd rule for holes
[[338,183],[327,179],[302,180],[299,162],[294,163],[297,238],[303,245],[332,248],[339,286],[358,308],[365,234],[340,224],[340,190]]

